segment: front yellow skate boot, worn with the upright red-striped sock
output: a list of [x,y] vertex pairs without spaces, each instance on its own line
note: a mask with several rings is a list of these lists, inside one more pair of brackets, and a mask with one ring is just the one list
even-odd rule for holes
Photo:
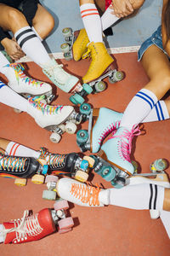
[[[88,44],[88,52],[91,55],[92,61],[88,68],[88,73],[82,78],[83,83],[89,83],[98,79],[102,74],[107,73],[111,69],[113,58],[107,52],[104,43],[90,43]],[[85,54],[85,56],[88,53]],[[83,56],[82,56],[83,57]]]

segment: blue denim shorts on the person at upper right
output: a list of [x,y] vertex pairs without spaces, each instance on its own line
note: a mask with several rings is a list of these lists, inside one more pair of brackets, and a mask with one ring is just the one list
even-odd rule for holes
[[159,49],[161,49],[166,55],[167,52],[163,49],[162,40],[161,40],[161,26],[159,26],[152,34],[152,36],[144,41],[144,43],[141,45],[139,52],[138,52],[138,61],[142,59],[142,56],[144,55],[144,51],[148,49],[151,45],[155,44]]

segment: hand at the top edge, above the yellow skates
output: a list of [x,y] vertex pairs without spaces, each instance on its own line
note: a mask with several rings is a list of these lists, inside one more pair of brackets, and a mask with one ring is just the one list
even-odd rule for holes
[[113,9],[113,15],[118,18],[126,17],[127,15],[132,15],[134,9],[130,0],[112,0],[112,5],[110,7]]

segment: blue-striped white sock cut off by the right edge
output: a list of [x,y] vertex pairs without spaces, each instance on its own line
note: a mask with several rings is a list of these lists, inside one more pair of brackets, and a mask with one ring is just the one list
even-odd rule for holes
[[143,123],[169,119],[167,105],[164,101],[158,101],[150,113],[144,118]]

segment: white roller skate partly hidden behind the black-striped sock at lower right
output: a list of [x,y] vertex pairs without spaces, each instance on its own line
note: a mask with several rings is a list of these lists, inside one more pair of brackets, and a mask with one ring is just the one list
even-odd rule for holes
[[[158,159],[150,165],[151,173],[134,172],[132,177],[127,178],[127,185],[136,185],[140,183],[152,183],[164,188],[170,189],[170,182],[167,173],[167,160]],[[150,210],[150,218],[156,219],[160,217],[159,210]]]

